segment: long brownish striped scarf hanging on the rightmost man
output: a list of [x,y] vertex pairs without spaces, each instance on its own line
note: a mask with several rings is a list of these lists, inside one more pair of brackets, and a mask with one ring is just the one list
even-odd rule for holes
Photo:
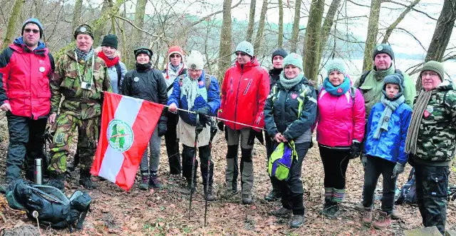
[[421,118],[425,112],[427,103],[429,103],[432,91],[420,92],[413,106],[412,118],[408,125],[407,138],[405,139],[405,153],[416,153],[416,141],[418,140],[418,130],[420,130]]

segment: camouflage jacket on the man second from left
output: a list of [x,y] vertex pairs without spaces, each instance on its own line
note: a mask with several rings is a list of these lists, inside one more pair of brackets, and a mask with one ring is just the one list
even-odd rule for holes
[[[101,115],[101,91],[112,92],[108,68],[103,59],[95,53],[95,63],[80,60],[76,63],[74,50],[66,52],[56,63],[56,70],[51,79],[51,113],[66,113],[78,119],[89,119]],[[84,73],[83,82],[90,83],[90,90],[81,88],[77,69]],[[86,70],[84,68],[86,67]],[[93,68],[93,71],[92,71]],[[93,78],[93,80],[90,80]],[[61,98],[64,97],[60,105]]]

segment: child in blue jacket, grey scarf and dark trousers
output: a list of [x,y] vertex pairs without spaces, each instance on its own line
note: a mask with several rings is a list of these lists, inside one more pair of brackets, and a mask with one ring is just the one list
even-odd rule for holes
[[365,168],[363,188],[363,222],[371,224],[373,193],[378,177],[383,175],[382,206],[373,227],[383,229],[391,225],[394,195],[398,175],[404,172],[408,154],[404,152],[405,138],[412,109],[405,104],[404,78],[394,73],[383,79],[383,96],[368,118],[366,156],[361,162]]

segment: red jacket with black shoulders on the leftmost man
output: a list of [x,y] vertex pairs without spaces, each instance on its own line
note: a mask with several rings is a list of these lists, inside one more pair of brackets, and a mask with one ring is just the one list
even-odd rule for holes
[[53,67],[53,58],[44,43],[30,51],[21,38],[16,39],[0,54],[0,106],[9,103],[15,116],[35,120],[48,116]]

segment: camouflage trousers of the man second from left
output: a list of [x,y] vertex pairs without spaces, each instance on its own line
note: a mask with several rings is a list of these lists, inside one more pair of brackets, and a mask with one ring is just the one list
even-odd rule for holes
[[81,120],[66,113],[57,117],[56,133],[50,145],[51,161],[48,165],[50,172],[56,174],[66,172],[68,149],[73,143],[76,128],[78,128],[78,153],[81,170],[90,169],[97,148],[98,120],[98,117]]

